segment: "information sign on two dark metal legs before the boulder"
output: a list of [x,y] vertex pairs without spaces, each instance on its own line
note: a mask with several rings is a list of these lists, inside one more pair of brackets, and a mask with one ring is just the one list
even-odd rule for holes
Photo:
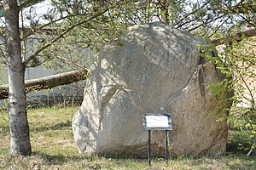
[[148,165],[151,164],[151,130],[165,130],[166,163],[169,159],[168,130],[172,130],[172,118],[170,113],[144,113],[143,127],[148,130]]

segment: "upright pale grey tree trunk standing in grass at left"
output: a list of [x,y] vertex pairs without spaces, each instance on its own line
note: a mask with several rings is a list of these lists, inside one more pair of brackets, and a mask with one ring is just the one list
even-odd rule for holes
[[20,53],[19,7],[16,0],[3,0],[6,25],[5,48],[9,72],[10,154],[32,152],[26,115],[25,65]]

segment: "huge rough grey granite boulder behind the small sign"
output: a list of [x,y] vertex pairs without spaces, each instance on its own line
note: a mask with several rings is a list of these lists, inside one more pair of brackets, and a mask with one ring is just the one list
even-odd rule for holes
[[[84,102],[73,117],[80,152],[147,157],[143,113],[172,114],[173,156],[221,154],[226,116],[207,85],[222,79],[198,56],[200,39],[164,23],[133,26],[108,45],[90,71]],[[205,65],[205,66],[203,66]],[[164,133],[151,135],[153,156],[164,156]]]

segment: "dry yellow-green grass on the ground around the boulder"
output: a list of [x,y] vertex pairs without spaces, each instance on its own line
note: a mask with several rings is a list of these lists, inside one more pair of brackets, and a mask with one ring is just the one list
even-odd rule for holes
[[256,169],[255,152],[247,157],[242,133],[230,131],[226,156],[180,156],[154,159],[121,159],[79,154],[73,142],[71,121],[79,106],[28,110],[32,155],[9,156],[9,124],[6,111],[0,113],[0,169]]

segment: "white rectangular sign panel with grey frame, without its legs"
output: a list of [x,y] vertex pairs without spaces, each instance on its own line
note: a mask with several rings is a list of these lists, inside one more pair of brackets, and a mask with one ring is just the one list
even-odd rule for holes
[[143,114],[143,127],[150,130],[172,130],[170,113],[145,113]]

